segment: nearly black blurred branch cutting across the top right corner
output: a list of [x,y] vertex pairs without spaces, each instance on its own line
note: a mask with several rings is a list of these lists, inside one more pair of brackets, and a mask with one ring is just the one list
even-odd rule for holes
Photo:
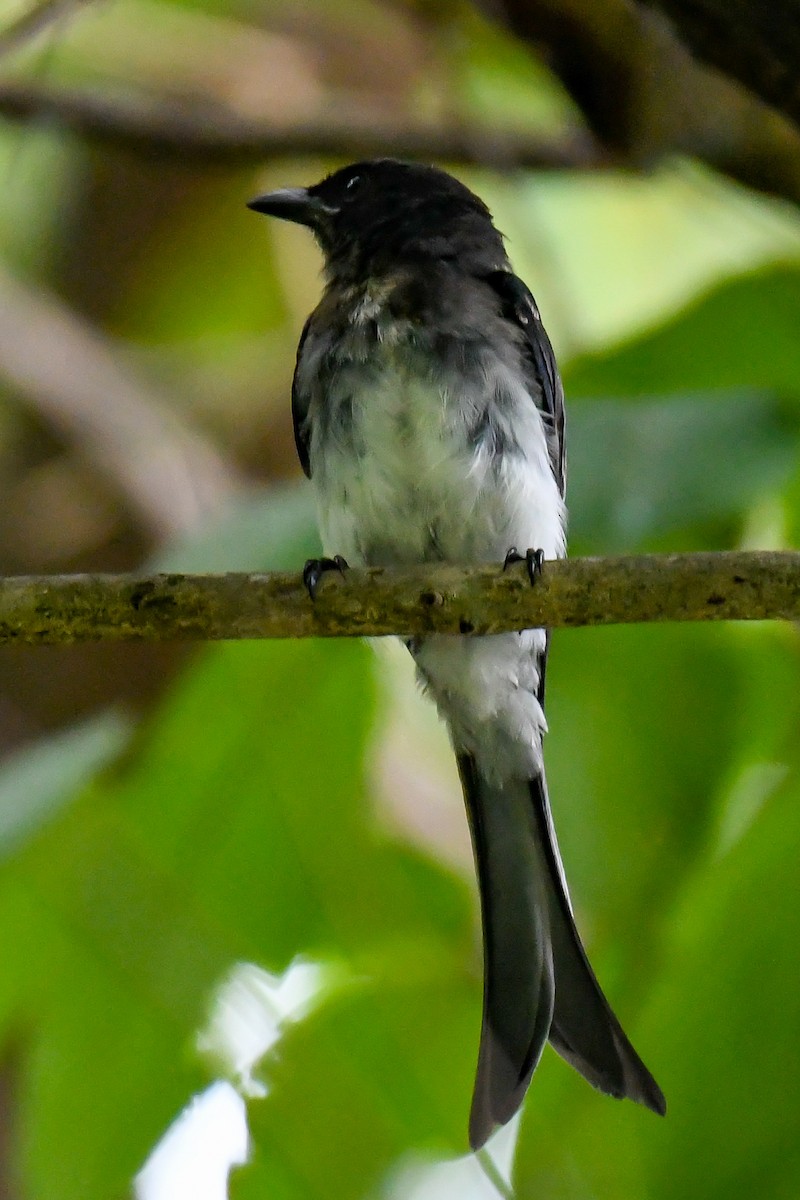
[[637,0],[660,8],[685,46],[800,125],[796,0]]

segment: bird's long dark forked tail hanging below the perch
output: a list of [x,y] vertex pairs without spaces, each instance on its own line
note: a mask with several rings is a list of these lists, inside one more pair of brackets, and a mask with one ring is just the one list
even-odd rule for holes
[[524,1098],[546,1040],[600,1091],[666,1111],[589,965],[570,906],[543,774],[491,782],[458,770],[483,923],[483,1021],[469,1138],[483,1145]]

